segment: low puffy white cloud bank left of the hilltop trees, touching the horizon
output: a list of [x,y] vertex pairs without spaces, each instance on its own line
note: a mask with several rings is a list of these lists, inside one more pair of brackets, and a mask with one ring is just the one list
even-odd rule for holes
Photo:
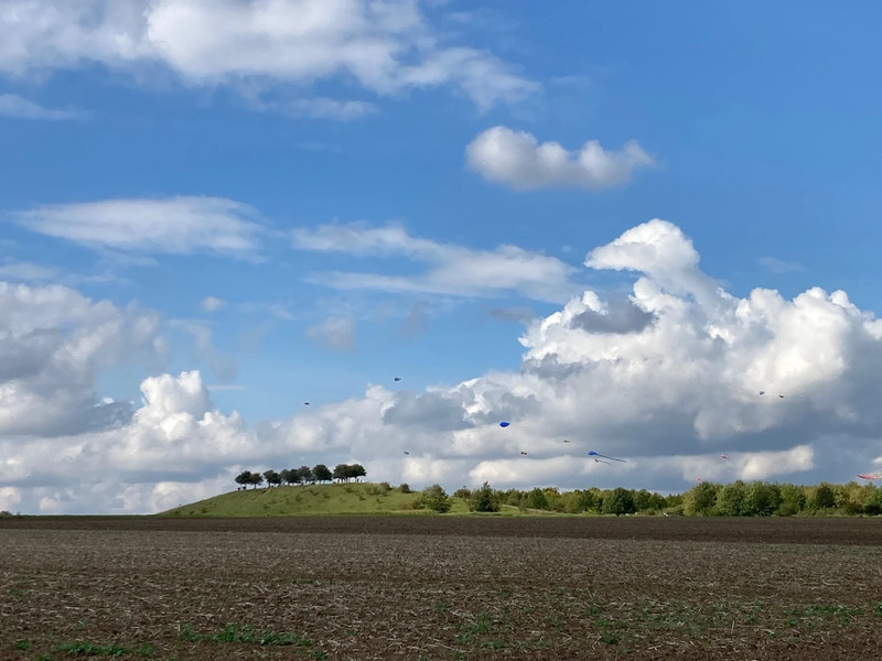
[[0,435],[0,484],[30,511],[157,511],[222,490],[237,464],[265,453],[237,413],[211,404],[196,371],[146,379],[129,420],[115,429],[26,443]]

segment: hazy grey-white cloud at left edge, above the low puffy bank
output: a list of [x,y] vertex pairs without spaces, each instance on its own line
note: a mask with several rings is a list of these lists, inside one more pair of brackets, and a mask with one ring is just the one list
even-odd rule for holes
[[0,437],[54,436],[125,418],[125,403],[96,401],[97,375],[162,351],[155,313],[69,288],[0,282]]

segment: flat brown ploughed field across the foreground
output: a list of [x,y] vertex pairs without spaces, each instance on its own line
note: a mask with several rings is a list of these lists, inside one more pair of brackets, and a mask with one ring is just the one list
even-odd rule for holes
[[882,520],[0,519],[0,659],[880,659]]

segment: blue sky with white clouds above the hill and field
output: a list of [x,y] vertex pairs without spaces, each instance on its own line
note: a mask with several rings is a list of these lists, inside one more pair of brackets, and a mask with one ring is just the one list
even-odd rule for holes
[[0,2],[0,510],[882,469],[881,19]]

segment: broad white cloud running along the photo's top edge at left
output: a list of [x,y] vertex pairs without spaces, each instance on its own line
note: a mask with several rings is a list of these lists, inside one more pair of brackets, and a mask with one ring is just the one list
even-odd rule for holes
[[448,45],[412,0],[7,0],[0,44],[0,72],[14,76],[161,65],[186,85],[228,85],[255,106],[301,116],[370,108],[311,98],[329,78],[374,95],[451,86],[481,109],[537,88],[483,50]]

